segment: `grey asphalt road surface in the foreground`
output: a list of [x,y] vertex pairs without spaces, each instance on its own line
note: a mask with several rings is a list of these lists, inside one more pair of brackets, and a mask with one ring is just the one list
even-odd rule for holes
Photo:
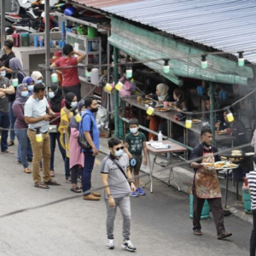
[[[16,148],[11,148],[16,149]],[[92,185],[101,186],[97,157]],[[32,174],[22,172],[14,155],[0,154],[0,215],[26,207],[37,207],[51,201],[76,195],[65,180],[63,163],[57,154],[55,180],[60,187],[49,190],[33,187]],[[143,177],[142,182],[148,177]],[[189,196],[164,183],[154,183],[154,194],[131,198],[131,241],[137,255],[248,255],[252,224],[231,215],[224,218],[226,230],[233,236],[218,241],[213,219],[203,220],[203,236],[192,232],[189,218]],[[79,195],[48,207],[20,212],[0,218],[0,256],[108,256],[128,255],[120,245],[122,218],[115,221],[115,249],[106,248],[106,206],[101,201],[84,201]]]

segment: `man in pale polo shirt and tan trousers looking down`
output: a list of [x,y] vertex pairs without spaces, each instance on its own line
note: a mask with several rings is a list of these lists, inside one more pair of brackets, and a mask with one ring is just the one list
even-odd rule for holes
[[[49,108],[44,96],[44,84],[36,84],[34,93],[25,104],[24,116],[28,124],[27,136],[30,139],[33,151],[32,169],[33,180],[36,188],[49,189],[49,185],[60,185],[49,176],[50,143],[49,143],[49,118],[55,113]],[[42,142],[37,142],[37,131],[42,133]],[[43,159],[43,180],[40,176],[40,161]]]

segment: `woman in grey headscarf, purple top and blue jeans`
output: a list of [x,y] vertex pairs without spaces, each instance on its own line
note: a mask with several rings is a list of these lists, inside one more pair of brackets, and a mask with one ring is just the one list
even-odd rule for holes
[[27,86],[25,84],[20,84],[16,90],[13,112],[16,117],[15,134],[19,142],[18,156],[20,157],[20,163],[22,164],[25,173],[31,172],[28,168],[27,160],[32,161],[32,147],[29,138],[27,137],[27,125],[24,118],[24,105],[28,97]]

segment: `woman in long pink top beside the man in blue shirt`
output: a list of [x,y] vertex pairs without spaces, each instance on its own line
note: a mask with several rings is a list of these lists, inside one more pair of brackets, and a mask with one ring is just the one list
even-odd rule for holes
[[[78,104],[78,110],[81,114],[84,110],[84,100],[81,100]],[[74,117],[71,117],[68,125],[70,137],[69,137],[69,167],[71,172],[71,191],[75,193],[81,193],[82,190],[78,187],[79,168],[84,167],[84,154],[79,147],[79,124]]]

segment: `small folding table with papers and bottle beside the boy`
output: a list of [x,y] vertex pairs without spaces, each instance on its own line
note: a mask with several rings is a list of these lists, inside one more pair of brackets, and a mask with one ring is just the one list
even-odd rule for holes
[[[156,143],[156,142],[154,142],[154,143]],[[166,154],[166,153],[171,154],[171,167],[170,167],[169,178],[168,178],[168,186],[171,185],[171,180],[173,180],[173,183],[175,183],[175,185],[177,186],[177,189],[180,191],[180,188],[175,181],[174,172],[173,172],[173,168],[172,168],[173,154],[179,153],[179,152],[185,153],[185,152],[187,152],[187,148],[184,148],[184,147],[178,145],[177,143],[172,143],[169,141],[163,141],[163,143],[166,145],[170,145],[170,148],[156,149],[156,148],[151,147],[151,142],[147,143],[148,163],[149,163],[149,169],[150,169],[150,172],[149,172],[150,180],[148,181],[148,183],[150,183],[150,192],[151,193],[153,193],[153,171],[154,171],[154,164],[155,164],[157,155],[158,154]],[[153,160],[152,165],[150,162],[149,153],[154,154],[154,160]],[[172,176],[172,178],[171,178],[171,176]],[[143,187],[145,187],[146,184],[148,184],[148,183],[145,183]]]

